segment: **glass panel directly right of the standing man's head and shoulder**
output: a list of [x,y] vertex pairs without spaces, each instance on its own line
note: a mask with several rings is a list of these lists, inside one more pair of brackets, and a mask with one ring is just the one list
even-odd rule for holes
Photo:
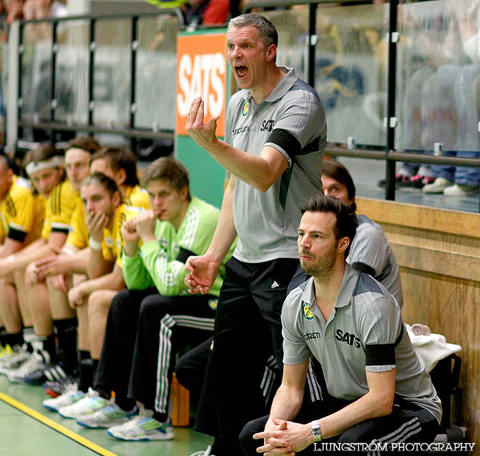
[[328,141],[384,146],[388,5],[317,8],[315,88]]

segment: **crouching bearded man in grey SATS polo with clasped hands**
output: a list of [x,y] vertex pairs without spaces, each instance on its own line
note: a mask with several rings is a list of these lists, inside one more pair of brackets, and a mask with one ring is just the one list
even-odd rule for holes
[[[357,216],[324,195],[300,208],[298,254],[313,277],[285,300],[282,385],[270,415],[243,428],[243,451],[318,455],[322,443],[335,442],[331,448],[351,455],[366,454],[368,444],[433,441],[440,399],[413,350],[400,306],[381,283],[345,261]],[[302,402],[311,356],[322,365],[330,398],[309,409]],[[345,453],[346,446],[358,452]]]

